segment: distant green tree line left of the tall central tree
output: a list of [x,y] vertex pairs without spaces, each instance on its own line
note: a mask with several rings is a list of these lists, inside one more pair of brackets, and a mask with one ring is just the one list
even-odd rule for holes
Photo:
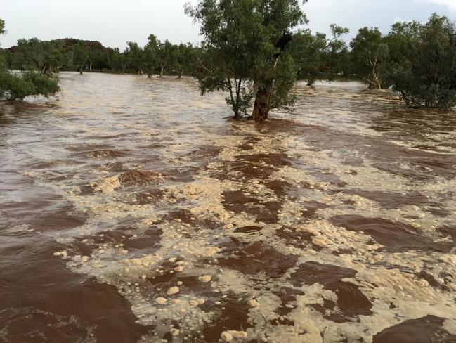
[[108,48],[99,41],[57,39],[40,41],[37,38],[20,39],[18,44],[4,50],[10,70],[34,70],[41,75],[64,71],[116,72],[145,74],[157,73],[191,75],[200,60],[201,48],[193,44],[172,44],[159,41],[151,34],[148,44],[138,46],[127,42],[126,48]]

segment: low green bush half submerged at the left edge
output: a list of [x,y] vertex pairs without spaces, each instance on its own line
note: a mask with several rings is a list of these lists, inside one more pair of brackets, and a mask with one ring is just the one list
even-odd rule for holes
[[[0,19],[0,34],[5,32],[5,22]],[[57,80],[33,70],[15,75],[6,68],[0,56],[0,101],[22,100],[26,96],[51,96],[59,91]]]

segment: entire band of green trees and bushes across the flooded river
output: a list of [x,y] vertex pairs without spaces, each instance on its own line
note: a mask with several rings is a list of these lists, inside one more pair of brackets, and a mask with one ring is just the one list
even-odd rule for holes
[[[304,1],[305,2],[305,1]],[[0,50],[0,96],[55,93],[60,70],[136,73],[198,79],[202,94],[226,91],[235,117],[266,119],[288,108],[294,82],[359,79],[371,89],[393,89],[411,106],[456,105],[456,28],[436,14],[429,22],[398,22],[387,34],[363,27],[350,41],[348,29],[331,34],[303,29],[301,1],[208,1],[186,7],[201,27],[201,44],[173,44],[153,34],[141,47],[124,50],[98,41],[20,39]],[[4,27],[4,22],[1,22]],[[19,70],[22,77],[7,72]],[[40,76],[46,76],[43,78]]]

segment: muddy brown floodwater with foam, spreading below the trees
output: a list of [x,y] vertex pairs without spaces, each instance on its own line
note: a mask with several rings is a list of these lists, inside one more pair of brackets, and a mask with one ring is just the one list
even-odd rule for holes
[[456,115],[356,82],[0,104],[0,342],[456,342]]

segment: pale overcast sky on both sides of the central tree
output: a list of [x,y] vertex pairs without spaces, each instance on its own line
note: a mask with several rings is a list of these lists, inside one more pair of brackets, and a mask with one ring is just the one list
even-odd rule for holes
[[[195,3],[196,0],[192,2]],[[198,27],[183,13],[188,0],[0,0],[6,21],[1,46],[20,38],[42,40],[72,37],[98,40],[123,48],[126,41],[145,44],[149,34],[174,43],[197,43]],[[309,0],[304,11],[312,30],[327,32],[332,22],[348,27],[350,37],[360,27],[387,32],[396,21],[425,21],[431,13],[456,21],[456,0]]]

